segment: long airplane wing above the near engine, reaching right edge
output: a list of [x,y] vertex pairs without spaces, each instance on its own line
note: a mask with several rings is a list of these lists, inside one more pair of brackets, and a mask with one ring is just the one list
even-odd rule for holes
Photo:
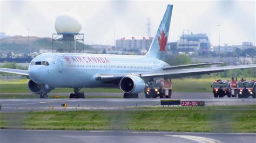
[[186,76],[203,75],[222,72],[227,69],[241,69],[241,68],[256,68],[256,65],[239,65],[239,66],[224,66],[224,67],[208,67],[208,68],[191,68],[191,69],[171,69],[171,70],[157,70],[143,73],[122,73],[122,74],[98,74],[96,80],[112,83],[112,81],[118,82],[121,78],[128,75],[140,76],[142,78],[153,79],[157,77],[170,78],[182,78]]

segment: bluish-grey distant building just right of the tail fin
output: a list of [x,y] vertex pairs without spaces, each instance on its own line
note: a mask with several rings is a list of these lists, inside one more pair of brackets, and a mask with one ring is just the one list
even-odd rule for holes
[[211,43],[207,34],[184,34],[178,40],[178,51],[181,52],[204,52],[210,51]]

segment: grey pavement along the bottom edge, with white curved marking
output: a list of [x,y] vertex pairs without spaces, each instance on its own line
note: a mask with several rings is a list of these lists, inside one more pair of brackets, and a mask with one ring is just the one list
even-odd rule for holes
[[254,142],[254,133],[0,130],[0,142]]

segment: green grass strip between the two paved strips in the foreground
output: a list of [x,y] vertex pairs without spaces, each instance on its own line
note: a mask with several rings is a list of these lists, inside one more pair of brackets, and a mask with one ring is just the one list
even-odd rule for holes
[[[0,128],[256,132],[256,105],[0,113]],[[167,110],[166,110],[167,109]]]

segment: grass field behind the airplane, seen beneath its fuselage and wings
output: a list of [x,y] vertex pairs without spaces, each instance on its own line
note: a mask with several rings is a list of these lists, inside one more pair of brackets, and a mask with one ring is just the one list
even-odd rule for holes
[[[184,78],[174,79],[173,91],[177,92],[211,92],[211,84],[215,78]],[[224,79],[223,79],[224,80]],[[28,80],[19,81],[0,81],[0,92],[24,93],[30,92],[28,89]],[[90,89],[84,88],[82,92],[122,92],[120,89]],[[52,92],[73,92],[71,88],[56,88]]]

